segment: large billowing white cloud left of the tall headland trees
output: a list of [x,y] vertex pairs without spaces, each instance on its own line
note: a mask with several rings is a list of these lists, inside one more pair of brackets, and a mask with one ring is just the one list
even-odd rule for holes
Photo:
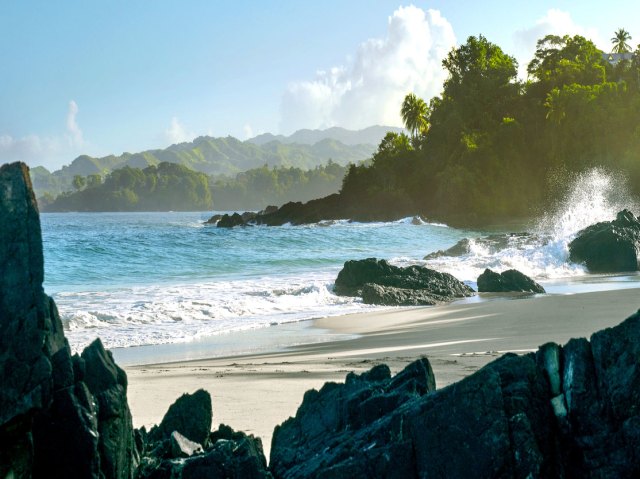
[[289,85],[281,131],[402,125],[400,105],[407,93],[426,101],[440,93],[446,79],[442,60],[455,43],[453,28],[440,12],[398,8],[389,17],[386,38],[360,44],[346,65]]

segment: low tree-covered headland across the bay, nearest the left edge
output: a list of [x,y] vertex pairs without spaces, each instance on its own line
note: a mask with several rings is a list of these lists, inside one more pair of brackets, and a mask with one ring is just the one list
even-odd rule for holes
[[75,176],[76,192],[63,193],[43,211],[202,211],[212,208],[209,178],[175,163],[125,166],[106,176]]

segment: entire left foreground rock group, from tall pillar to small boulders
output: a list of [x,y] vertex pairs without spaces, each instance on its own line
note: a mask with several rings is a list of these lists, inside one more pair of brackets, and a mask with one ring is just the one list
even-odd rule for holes
[[2,166],[0,477],[271,477],[259,439],[228,427],[210,433],[211,397],[204,391],[180,398],[149,438],[134,431],[125,372],[99,339],[71,355],[43,278],[28,169]]

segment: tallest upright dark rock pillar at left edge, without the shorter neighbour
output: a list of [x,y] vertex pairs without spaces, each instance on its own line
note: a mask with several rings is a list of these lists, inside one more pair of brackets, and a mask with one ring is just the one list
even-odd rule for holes
[[[32,421],[68,381],[67,342],[44,293],[42,236],[26,165],[0,167],[0,477],[32,471]],[[62,351],[60,355],[58,352]],[[53,371],[54,356],[64,370]]]

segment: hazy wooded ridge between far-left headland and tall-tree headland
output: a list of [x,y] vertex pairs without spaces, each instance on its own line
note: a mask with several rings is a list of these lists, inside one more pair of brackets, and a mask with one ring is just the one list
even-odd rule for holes
[[337,193],[346,167],[333,161],[312,170],[300,168],[254,168],[234,179],[213,183],[216,210],[260,210],[287,201],[309,201]]

